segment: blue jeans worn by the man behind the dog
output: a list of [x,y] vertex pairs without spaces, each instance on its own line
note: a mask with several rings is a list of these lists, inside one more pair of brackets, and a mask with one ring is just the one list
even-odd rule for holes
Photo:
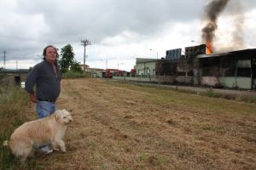
[[38,101],[37,103],[37,113],[39,119],[53,114],[55,110],[55,102]]

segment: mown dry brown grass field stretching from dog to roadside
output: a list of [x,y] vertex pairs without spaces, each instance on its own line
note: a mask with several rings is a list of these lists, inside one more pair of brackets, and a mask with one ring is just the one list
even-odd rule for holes
[[35,169],[256,169],[255,103],[84,78],[63,80],[57,104],[74,119],[67,153]]

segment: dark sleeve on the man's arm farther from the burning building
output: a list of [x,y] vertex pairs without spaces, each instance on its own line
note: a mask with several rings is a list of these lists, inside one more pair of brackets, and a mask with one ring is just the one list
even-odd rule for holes
[[34,94],[34,86],[37,82],[38,76],[40,72],[40,65],[35,65],[32,68],[32,71],[30,71],[27,76],[26,76],[26,81],[25,81],[25,89],[26,92],[29,94]]

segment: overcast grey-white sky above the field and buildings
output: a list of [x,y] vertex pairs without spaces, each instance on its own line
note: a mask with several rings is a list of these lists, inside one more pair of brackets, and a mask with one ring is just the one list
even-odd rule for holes
[[[73,46],[75,59],[91,68],[130,71],[136,58],[165,57],[166,50],[198,45],[210,0],[0,0],[0,67],[28,68],[45,46]],[[239,8],[238,8],[239,7]],[[237,20],[239,14],[242,21]],[[242,24],[242,46],[256,46],[256,1],[230,0],[218,17],[215,46],[232,44]],[[233,33],[232,33],[233,32]],[[153,49],[149,50],[149,49]],[[106,62],[108,59],[108,62]],[[107,65],[108,64],[108,65]]]

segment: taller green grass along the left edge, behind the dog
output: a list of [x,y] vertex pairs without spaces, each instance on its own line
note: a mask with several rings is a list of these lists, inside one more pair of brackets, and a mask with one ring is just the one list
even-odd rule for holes
[[20,163],[12,155],[9,146],[3,146],[9,140],[16,127],[26,122],[24,114],[29,106],[28,96],[23,88],[11,86],[0,87],[0,169],[32,169],[29,162]]

